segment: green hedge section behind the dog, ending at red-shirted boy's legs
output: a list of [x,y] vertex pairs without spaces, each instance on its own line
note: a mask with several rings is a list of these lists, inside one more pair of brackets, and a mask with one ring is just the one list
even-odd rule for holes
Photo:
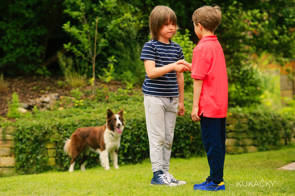
[[[103,92],[103,91],[102,91]],[[119,148],[119,164],[136,164],[149,157],[149,142],[146,131],[143,96],[129,96],[122,90],[118,93],[101,94],[96,100],[84,99],[83,108],[69,108],[63,111],[35,112],[17,119],[13,126],[16,167],[23,174],[39,173],[50,169],[64,171],[69,168],[70,159],[63,153],[64,140],[70,138],[78,127],[101,126],[106,123],[107,109],[118,112],[124,108],[125,128]],[[64,98],[65,99],[65,98]],[[122,100],[120,100],[122,99]],[[189,99],[189,98],[187,98]],[[68,100],[65,100],[65,104]],[[58,106],[57,106],[58,107]],[[199,123],[192,123],[188,112],[178,117],[174,133],[172,156],[189,157],[203,155]],[[47,166],[45,144],[55,142],[56,165]],[[87,167],[99,165],[99,155],[91,154]],[[79,169],[76,164],[75,169]]]

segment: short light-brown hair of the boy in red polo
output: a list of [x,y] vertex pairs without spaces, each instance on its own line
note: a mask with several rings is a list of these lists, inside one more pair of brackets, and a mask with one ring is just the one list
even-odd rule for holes
[[206,30],[213,32],[221,20],[221,8],[217,5],[202,6],[194,12],[192,18],[195,25],[200,23]]

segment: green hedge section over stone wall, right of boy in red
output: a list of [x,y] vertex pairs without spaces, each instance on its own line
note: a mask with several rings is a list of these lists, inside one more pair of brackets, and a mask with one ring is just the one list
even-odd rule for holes
[[[264,106],[251,108],[231,108],[231,118],[247,119],[246,123],[237,122],[237,131],[247,132],[258,141],[259,151],[274,150],[281,147],[280,139],[287,137],[290,142],[295,132],[294,115],[274,112]],[[245,126],[246,125],[246,126]]]

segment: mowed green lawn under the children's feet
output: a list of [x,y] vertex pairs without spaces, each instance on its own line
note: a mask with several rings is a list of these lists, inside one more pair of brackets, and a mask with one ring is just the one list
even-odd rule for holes
[[[177,187],[150,185],[150,161],[138,165],[87,168],[81,172],[48,172],[0,178],[1,196],[278,196],[295,195],[295,171],[277,168],[295,162],[295,147],[279,151],[226,155],[224,180],[226,191],[193,191],[193,184],[209,174],[206,157],[171,159],[170,172],[186,185]],[[237,182],[255,181],[264,186],[240,186]],[[271,181],[265,186],[265,182]],[[264,184],[263,184],[264,183]],[[241,183],[240,183],[241,184]]]

